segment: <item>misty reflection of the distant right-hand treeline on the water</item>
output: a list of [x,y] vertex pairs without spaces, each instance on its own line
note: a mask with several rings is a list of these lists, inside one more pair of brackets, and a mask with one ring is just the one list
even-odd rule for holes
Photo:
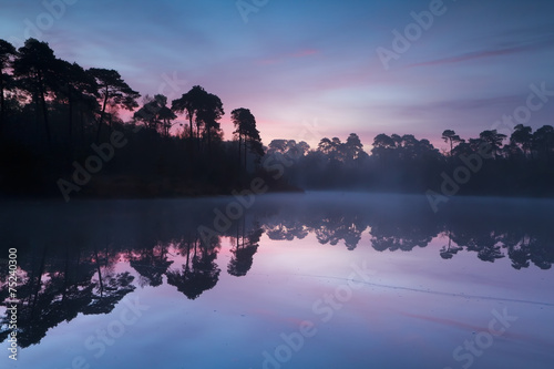
[[546,221],[554,217],[552,205],[537,209],[537,201],[460,198],[435,215],[418,196],[404,196],[403,204],[398,197],[383,197],[389,198],[318,203],[302,209],[283,207],[264,222],[263,228],[270,239],[302,239],[314,233],[320,244],[342,243],[349,250],[359,245],[369,228],[371,247],[378,252],[410,252],[441,237],[445,245],[440,256],[444,259],[465,249],[483,262],[509,256],[515,269],[531,264],[548,269],[554,263],[554,228]]

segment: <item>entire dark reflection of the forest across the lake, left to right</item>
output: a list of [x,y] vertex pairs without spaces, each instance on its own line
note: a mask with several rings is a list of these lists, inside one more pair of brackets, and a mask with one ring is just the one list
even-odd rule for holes
[[[110,312],[135,285],[157,287],[165,278],[188,299],[198,298],[219,279],[222,237],[232,243],[227,273],[236,277],[252,268],[264,233],[289,242],[312,234],[321,245],[343,245],[348,250],[370,246],[378,252],[409,252],[440,237],[438,255],[443,259],[465,250],[484,262],[507,256],[515,269],[548,269],[554,263],[554,228],[545,221],[553,218],[554,209],[537,202],[454,201],[435,215],[417,196],[308,199],[260,198],[211,239],[199,236],[198,226],[211,227],[214,207],[225,201],[7,204],[0,212],[0,230],[2,253],[18,248],[19,344],[39,342],[48,329],[79,312]],[[120,262],[129,263],[136,280],[130,271],[116,271]],[[8,298],[7,267],[0,264],[2,301]],[[8,337],[6,328],[0,341]]]

